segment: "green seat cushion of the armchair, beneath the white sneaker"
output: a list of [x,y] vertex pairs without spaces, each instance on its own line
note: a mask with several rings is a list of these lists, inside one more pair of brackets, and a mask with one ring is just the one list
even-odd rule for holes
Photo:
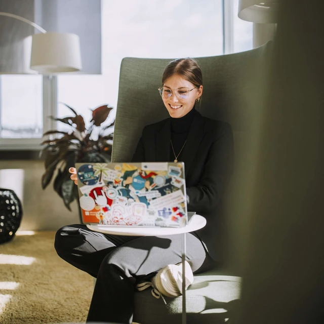
[[[186,292],[187,323],[218,323],[232,318],[237,308],[240,278],[205,272],[194,276]],[[162,299],[152,296],[151,290],[136,292],[134,321],[140,324],[173,324],[181,322],[182,296]]]

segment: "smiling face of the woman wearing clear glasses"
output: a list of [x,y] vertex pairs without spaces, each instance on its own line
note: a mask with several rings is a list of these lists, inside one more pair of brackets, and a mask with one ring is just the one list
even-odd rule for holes
[[[168,112],[173,118],[180,118],[186,115],[194,106],[195,100],[203,93],[203,86],[197,89],[191,82],[184,79],[182,76],[175,74],[169,77],[163,85],[164,89],[171,89],[172,95],[170,98],[162,97]],[[194,89],[193,89],[194,88]],[[189,91],[189,96],[186,99],[179,99],[175,93],[178,91]]]

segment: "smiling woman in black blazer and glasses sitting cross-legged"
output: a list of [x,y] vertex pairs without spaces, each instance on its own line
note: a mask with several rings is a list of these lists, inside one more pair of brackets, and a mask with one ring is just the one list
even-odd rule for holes
[[[217,261],[216,219],[232,173],[232,130],[195,110],[203,94],[203,77],[195,60],[170,62],[162,85],[159,92],[170,118],[143,129],[133,161],[185,163],[188,211],[207,219],[204,229],[186,236],[188,264],[198,273]],[[70,172],[76,183],[75,169]],[[118,236],[77,224],[58,230],[55,249],[61,258],[97,278],[87,321],[131,323],[135,284],[152,277],[155,283],[159,270],[181,262],[181,235]],[[181,271],[181,267],[173,269]]]

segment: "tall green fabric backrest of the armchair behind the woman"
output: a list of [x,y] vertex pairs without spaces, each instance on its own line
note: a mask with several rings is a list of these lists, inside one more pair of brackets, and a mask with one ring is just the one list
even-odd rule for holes
[[[256,82],[266,76],[272,42],[251,51],[196,58],[203,72],[204,91],[196,109],[204,116],[227,121],[234,133],[234,176],[225,201],[226,210],[218,215],[216,250],[227,271],[239,269],[244,246],[240,237],[245,219],[237,217],[236,179],[245,166],[250,126],[257,115],[260,93]],[[112,148],[112,161],[130,161],[144,126],[169,116],[157,91],[170,59],[124,58],[121,62],[119,93]],[[238,172],[236,171],[238,170]],[[244,170],[243,170],[244,172]],[[234,272],[233,272],[234,273]]]

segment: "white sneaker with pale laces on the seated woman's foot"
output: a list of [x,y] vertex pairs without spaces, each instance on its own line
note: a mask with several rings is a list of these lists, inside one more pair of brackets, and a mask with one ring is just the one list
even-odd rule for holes
[[[185,289],[187,290],[193,282],[193,273],[187,261],[185,261],[185,278]],[[180,296],[182,294],[182,263],[167,265],[156,273],[151,282],[141,282],[136,287],[139,291],[153,287],[152,295],[155,298]]]

